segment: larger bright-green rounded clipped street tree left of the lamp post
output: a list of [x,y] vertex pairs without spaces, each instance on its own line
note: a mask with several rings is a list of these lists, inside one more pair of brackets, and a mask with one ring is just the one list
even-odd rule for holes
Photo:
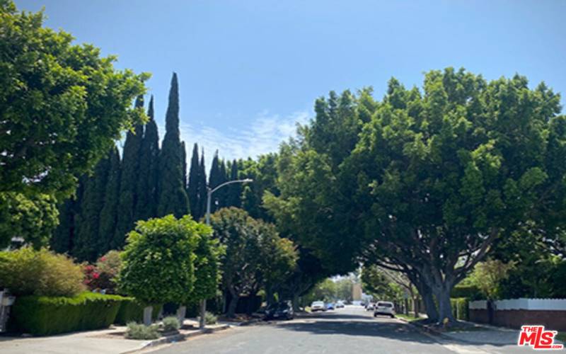
[[[195,282],[195,249],[205,232],[190,216],[138,222],[122,253],[122,291],[146,304],[187,302]],[[151,323],[151,307],[144,310],[144,323]]]

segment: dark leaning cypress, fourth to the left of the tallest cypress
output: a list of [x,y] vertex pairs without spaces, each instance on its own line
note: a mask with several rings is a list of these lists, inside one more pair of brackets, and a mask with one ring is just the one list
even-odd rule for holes
[[98,227],[109,171],[110,159],[106,156],[96,164],[93,176],[86,178],[72,250],[79,261],[95,261],[101,254],[101,250],[98,249],[100,246]]

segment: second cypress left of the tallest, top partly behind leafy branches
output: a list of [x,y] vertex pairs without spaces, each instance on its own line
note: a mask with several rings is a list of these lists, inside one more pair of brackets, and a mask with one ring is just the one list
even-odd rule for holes
[[[144,106],[143,96],[136,99],[136,107]],[[122,154],[122,174],[120,176],[120,202],[118,203],[118,220],[115,234],[115,245],[124,245],[126,234],[134,228],[137,221],[134,210],[137,204],[137,182],[139,177],[139,159],[141,140],[144,138],[144,126],[138,124],[134,132],[126,135],[124,152]]]

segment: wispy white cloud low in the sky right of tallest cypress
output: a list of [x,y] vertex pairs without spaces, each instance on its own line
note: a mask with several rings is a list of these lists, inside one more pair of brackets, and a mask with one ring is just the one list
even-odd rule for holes
[[[299,111],[288,116],[271,114],[263,111],[243,127],[229,127],[220,131],[207,126],[204,122],[183,123],[180,125],[181,139],[187,145],[187,160],[192,154],[195,142],[199,149],[204,148],[207,166],[210,166],[216,149],[224,159],[255,158],[267,152],[276,152],[279,144],[295,135],[296,123],[308,121],[308,112]],[[163,132],[160,127],[160,132]],[[164,134],[164,133],[163,133]],[[190,161],[187,161],[190,164]]]

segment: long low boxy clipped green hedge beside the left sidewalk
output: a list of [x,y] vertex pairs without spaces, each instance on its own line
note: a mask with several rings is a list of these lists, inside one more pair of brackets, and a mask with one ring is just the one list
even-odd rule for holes
[[122,299],[93,292],[76,297],[16,297],[10,327],[36,336],[103,329],[114,322]]

